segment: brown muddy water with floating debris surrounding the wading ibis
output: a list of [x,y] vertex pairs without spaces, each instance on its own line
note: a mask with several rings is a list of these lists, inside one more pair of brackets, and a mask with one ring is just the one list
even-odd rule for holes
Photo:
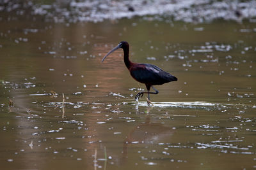
[[[256,168],[255,39],[249,22],[1,20],[1,169]],[[122,40],[179,79],[154,106],[122,50],[101,63]]]

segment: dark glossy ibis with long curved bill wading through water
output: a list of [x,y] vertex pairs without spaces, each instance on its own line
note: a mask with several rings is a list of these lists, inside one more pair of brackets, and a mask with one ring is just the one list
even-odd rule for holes
[[[148,104],[150,103],[149,94],[158,94],[158,91],[153,87],[153,85],[163,85],[163,83],[168,83],[170,81],[177,81],[177,78],[170,73],[163,71],[163,69],[154,66],[152,64],[140,64],[131,62],[129,60],[129,44],[126,41],[121,41],[115,48],[113,48],[107,55],[104,56],[102,62],[106,57],[115,52],[118,48],[123,48],[124,50],[124,63],[127,69],[129,69],[131,76],[140,83],[144,83],[147,87],[147,92],[139,92],[136,94],[135,99],[140,99],[143,94],[148,94]],[[155,92],[150,92],[150,87],[155,90]]]

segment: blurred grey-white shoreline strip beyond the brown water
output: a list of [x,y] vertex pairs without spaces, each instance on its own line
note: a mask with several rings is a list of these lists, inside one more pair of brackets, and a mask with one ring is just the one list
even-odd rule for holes
[[256,22],[256,1],[22,1],[0,0],[1,13],[40,15],[46,22],[102,22],[121,18],[203,23],[214,20]]

